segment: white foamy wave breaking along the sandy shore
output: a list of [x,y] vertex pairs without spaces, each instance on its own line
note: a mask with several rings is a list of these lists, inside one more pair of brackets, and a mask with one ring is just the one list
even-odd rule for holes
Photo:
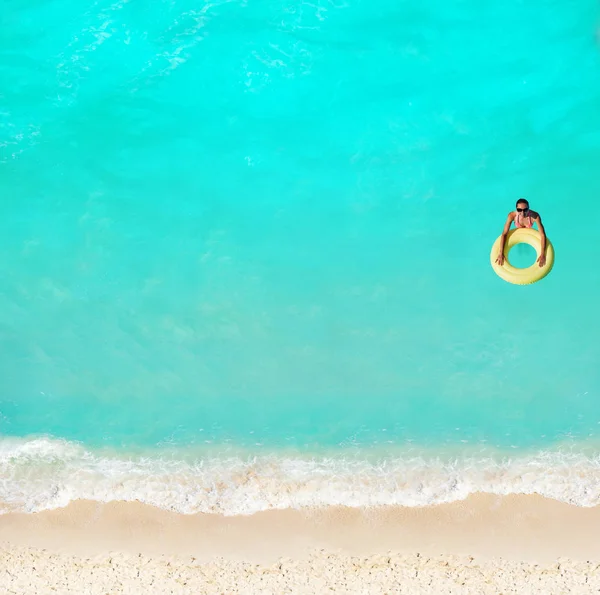
[[173,453],[111,455],[49,438],[0,439],[0,513],[37,512],[88,499],[234,515],[330,505],[424,506],[474,492],[537,493],[594,506],[600,503],[600,458],[554,451],[445,462],[206,453],[194,459]]

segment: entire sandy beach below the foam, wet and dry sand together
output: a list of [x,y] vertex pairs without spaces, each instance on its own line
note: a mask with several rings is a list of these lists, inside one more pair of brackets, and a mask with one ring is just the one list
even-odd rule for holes
[[593,593],[599,526],[538,496],[233,517],[78,501],[0,517],[0,592]]

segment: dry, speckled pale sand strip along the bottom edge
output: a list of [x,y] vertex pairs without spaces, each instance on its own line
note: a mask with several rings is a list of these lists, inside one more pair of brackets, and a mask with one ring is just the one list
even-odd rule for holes
[[19,595],[592,593],[600,590],[600,565],[570,561],[534,565],[451,555],[352,557],[327,552],[257,565],[141,554],[81,558],[13,546],[0,549],[0,589]]

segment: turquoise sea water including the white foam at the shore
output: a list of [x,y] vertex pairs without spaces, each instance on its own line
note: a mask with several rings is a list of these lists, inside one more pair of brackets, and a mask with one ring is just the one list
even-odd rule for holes
[[9,0],[1,511],[598,503],[600,9],[483,4]]

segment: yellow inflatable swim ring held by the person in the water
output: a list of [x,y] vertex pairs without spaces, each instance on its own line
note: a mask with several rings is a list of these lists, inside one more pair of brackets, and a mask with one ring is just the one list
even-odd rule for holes
[[[546,264],[541,267],[537,262],[537,259],[542,252],[540,232],[537,231],[537,229],[532,229],[531,227],[519,227],[518,229],[511,229],[508,232],[504,244],[504,264],[502,266],[496,262],[496,258],[498,258],[498,254],[500,254],[501,239],[502,236],[494,242],[490,254],[492,268],[501,279],[504,279],[509,283],[514,283],[515,285],[529,285],[530,283],[535,283],[536,281],[543,279],[552,270],[552,266],[554,265],[554,248],[552,247],[552,242],[550,242],[547,237]],[[510,264],[508,253],[513,246],[523,243],[529,244],[535,248],[537,254],[536,262],[526,269],[518,269]]]

